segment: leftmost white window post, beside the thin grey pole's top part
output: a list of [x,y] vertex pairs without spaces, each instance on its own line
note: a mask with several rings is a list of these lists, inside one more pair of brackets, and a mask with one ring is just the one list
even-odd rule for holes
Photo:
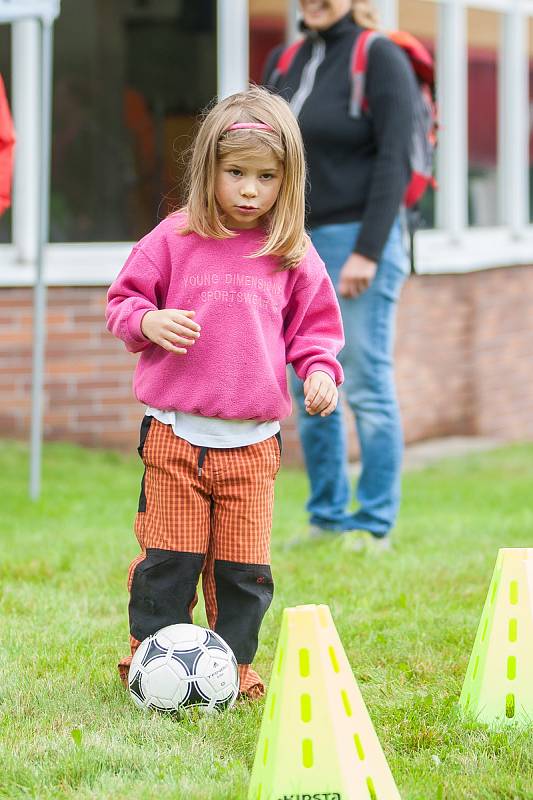
[[12,25],[13,121],[17,135],[12,240],[17,258],[35,262],[39,242],[41,60],[37,20]]

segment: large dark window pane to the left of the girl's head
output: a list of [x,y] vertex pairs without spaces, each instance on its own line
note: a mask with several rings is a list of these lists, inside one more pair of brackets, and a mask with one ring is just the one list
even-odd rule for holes
[[54,50],[50,239],[138,239],[179,204],[216,94],[216,2],[69,0]]

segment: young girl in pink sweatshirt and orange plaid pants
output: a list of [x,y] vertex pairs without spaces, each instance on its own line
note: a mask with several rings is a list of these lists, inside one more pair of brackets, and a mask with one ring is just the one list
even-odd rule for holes
[[[145,471],[131,564],[132,653],[191,622],[200,573],[209,626],[230,645],[240,690],[273,593],[270,532],[286,364],[309,414],[337,405],[340,312],[304,231],[305,165],[288,105],[262,89],[218,103],[199,130],[187,204],[133,248],[107,324],[141,356]],[[127,680],[131,657],[119,664]]]

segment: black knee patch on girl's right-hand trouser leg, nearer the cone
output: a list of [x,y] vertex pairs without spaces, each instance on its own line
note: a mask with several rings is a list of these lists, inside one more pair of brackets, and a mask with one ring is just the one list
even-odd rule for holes
[[274,582],[265,564],[215,561],[218,616],[215,631],[229,644],[239,664],[251,664],[259,628],[272,602]]

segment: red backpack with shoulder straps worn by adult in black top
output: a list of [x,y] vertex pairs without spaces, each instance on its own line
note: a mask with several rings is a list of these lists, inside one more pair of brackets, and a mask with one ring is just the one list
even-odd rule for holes
[[[357,119],[361,114],[368,113],[368,102],[365,97],[368,54],[372,43],[385,35],[406,53],[418,80],[419,91],[415,102],[415,125],[411,143],[411,180],[404,195],[404,203],[410,208],[419,202],[428,186],[436,187],[433,178],[438,127],[437,106],[434,100],[435,67],[431,54],[418,39],[402,31],[382,34],[374,30],[364,30],[357,37],[350,60],[352,90],[349,115]],[[289,71],[304,41],[305,39],[298,39],[280,53],[271,76],[274,85],[281,75]]]

